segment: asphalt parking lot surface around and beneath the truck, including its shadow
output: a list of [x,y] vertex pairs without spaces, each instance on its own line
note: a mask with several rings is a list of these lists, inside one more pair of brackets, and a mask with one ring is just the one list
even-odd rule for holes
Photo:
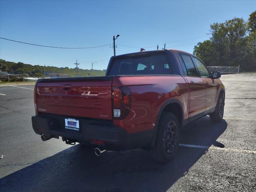
[[33,85],[0,87],[1,192],[256,191],[256,73],[222,75],[224,120],[182,130],[168,164],[136,149],[93,156],[32,129]]

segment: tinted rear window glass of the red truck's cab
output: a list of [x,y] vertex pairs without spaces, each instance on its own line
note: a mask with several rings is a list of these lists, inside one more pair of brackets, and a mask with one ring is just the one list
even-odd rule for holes
[[108,72],[112,75],[161,75],[173,74],[166,52],[142,53],[116,57]]

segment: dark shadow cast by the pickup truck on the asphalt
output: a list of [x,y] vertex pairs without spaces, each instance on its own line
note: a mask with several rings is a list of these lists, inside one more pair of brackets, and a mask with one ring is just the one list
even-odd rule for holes
[[[181,143],[224,147],[216,140],[226,128],[225,120],[212,124],[205,117],[182,130]],[[206,152],[180,147],[172,162],[160,164],[141,149],[97,157],[78,144],[2,178],[0,188],[5,192],[162,192],[185,176]]]

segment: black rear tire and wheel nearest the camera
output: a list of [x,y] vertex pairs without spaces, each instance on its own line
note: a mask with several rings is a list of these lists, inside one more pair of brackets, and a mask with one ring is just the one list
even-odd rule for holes
[[178,152],[180,144],[180,125],[177,117],[168,112],[162,114],[157,134],[156,144],[150,151],[153,160],[158,162],[169,162]]

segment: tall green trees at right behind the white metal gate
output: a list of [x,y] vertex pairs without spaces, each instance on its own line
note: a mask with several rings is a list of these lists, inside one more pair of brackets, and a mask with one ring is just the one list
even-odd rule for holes
[[238,66],[242,72],[256,71],[256,11],[248,22],[233,18],[210,25],[210,40],[194,47],[207,66]]

